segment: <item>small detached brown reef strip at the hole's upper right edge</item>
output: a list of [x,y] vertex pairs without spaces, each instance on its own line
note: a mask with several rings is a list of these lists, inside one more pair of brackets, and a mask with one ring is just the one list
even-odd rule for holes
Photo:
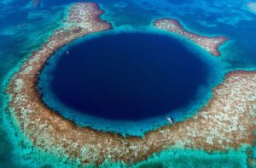
[[201,48],[204,48],[208,53],[211,53],[215,56],[220,55],[220,52],[218,50],[219,46],[222,45],[224,42],[228,41],[228,38],[225,36],[209,37],[187,31],[183,28],[183,25],[181,25],[178,20],[173,19],[155,20],[154,27],[183,36],[191,40],[192,42],[195,42]]

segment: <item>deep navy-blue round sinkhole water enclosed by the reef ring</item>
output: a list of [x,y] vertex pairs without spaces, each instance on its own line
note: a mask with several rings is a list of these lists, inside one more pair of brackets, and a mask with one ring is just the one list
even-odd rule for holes
[[81,42],[68,51],[51,71],[50,89],[42,90],[103,119],[166,115],[188,105],[207,81],[207,65],[170,36],[121,33]]

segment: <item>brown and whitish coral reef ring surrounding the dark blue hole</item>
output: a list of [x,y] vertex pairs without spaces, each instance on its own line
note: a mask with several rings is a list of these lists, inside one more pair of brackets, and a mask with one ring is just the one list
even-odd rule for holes
[[[9,113],[34,147],[55,151],[80,163],[99,165],[106,160],[137,163],[169,148],[203,149],[207,152],[253,146],[256,109],[256,71],[228,73],[223,83],[212,89],[212,98],[187,120],[147,132],[144,137],[123,137],[77,126],[45,106],[38,92],[38,74],[59,48],[80,36],[107,31],[96,3],[75,3],[67,20],[42,48],[33,52],[9,81]],[[227,39],[185,31],[177,20],[156,20],[154,26],[196,42],[218,56],[218,46]]]

